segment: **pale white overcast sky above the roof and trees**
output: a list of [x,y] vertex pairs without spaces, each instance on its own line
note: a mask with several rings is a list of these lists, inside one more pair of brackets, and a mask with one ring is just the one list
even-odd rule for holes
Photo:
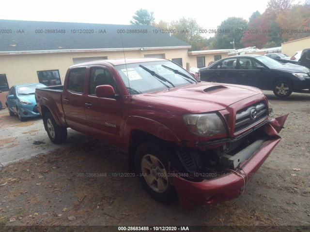
[[155,22],[194,18],[208,30],[217,29],[228,17],[248,20],[255,11],[262,14],[267,3],[268,0],[6,0],[1,2],[0,19],[129,25],[135,12],[142,8],[154,12]]

